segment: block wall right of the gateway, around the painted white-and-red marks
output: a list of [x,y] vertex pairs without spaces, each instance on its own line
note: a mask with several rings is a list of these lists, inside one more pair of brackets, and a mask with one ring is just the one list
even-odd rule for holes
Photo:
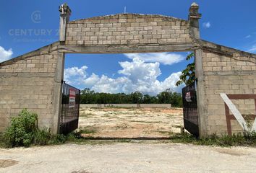
[[[208,134],[218,135],[227,134],[225,105],[220,93],[256,94],[256,56],[231,48],[221,48],[226,50],[222,53],[209,48],[202,50]],[[242,115],[255,115],[254,99],[231,101]],[[242,132],[236,120],[231,120],[231,129],[232,133]]]

